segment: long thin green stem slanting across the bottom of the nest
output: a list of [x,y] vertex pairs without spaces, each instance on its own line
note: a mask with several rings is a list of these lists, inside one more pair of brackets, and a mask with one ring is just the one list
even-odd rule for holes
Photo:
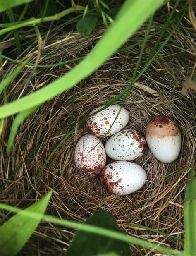
[[[5,209],[7,211],[13,211],[15,213],[19,213],[21,211],[19,208],[12,207],[12,206],[7,206],[7,205],[2,204],[2,203],[0,203],[0,208]],[[139,239],[139,238],[136,238],[136,237],[131,237],[131,236],[128,236],[126,234],[122,234],[120,232],[115,232],[115,231],[112,231],[112,230],[108,230],[108,229],[105,229],[103,227],[96,227],[96,226],[88,225],[88,224],[85,224],[85,223],[79,223],[79,222],[76,222],[76,221],[60,219],[58,217],[51,216],[51,215],[41,215],[41,214],[38,214],[38,213],[35,213],[35,212],[32,213],[32,212],[29,212],[27,209],[25,210],[24,215],[26,217],[29,217],[29,218],[34,218],[34,219],[39,219],[39,220],[42,219],[42,220],[45,220],[45,221],[48,221],[48,222],[51,222],[51,223],[63,225],[65,227],[73,228],[73,229],[76,229],[76,230],[82,230],[82,231],[90,232],[90,233],[93,233],[93,234],[99,234],[99,235],[102,235],[102,236],[105,236],[105,237],[110,237],[112,239],[117,239],[117,240],[127,242],[127,243],[130,243],[130,244],[136,244],[136,245],[139,245],[139,246],[144,247],[146,249],[157,251],[159,253],[169,254],[169,255],[174,255],[174,256],[183,255],[180,251],[170,249],[170,248],[167,248],[165,246],[161,246],[159,244],[153,244],[153,243],[147,242],[143,239]]]

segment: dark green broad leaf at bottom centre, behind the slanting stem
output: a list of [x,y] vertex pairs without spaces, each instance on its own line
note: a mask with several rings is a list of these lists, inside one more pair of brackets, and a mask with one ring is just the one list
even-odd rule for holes
[[[120,230],[115,218],[103,210],[96,211],[86,219],[85,223],[126,234],[125,231]],[[130,255],[129,244],[125,242],[78,230],[65,255],[78,256],[78,252],[80,256],[105,255],[112,251],[120,256]]]

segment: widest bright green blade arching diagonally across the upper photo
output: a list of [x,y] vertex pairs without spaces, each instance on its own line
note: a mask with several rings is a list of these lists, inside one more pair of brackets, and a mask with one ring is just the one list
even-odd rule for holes
[[73,87],[110,57],[143,24],[149,15],[160,7],[161,3],[162,0],[146,0],[145,5],[143,5],[143,1],[127,0],[121,8],[116,21],[113,22],[96,47],[78,66],[62,78],[45,86],[45,88],[2,106],[0,108],[0,118],[25,110],[27,104],[30,108],[41,104]]

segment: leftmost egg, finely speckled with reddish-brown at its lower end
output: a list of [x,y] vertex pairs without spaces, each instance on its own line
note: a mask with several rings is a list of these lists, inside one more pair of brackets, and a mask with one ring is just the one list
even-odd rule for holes
[[74,160],[78,170],[86,176],[97,175],[106,163],[105,148],[100,139],[86,134],[76,144]]

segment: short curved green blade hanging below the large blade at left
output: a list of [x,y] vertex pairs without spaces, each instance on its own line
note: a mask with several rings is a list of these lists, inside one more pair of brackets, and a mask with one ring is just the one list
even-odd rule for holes
[[33,112],[35,111],[39,106],[35,106],[33,108],[29,108],[27,110],[24,110],[22,112],[20,112],[15,118],[14,121],[12,123],[12,127],[10,130],[10,135],[9,135],[9,139],[7,142],[7,148],[6,148],[6,153],[7,156],[10,156],[11,153],[11,149],[12,149],[12,145],[14,143],[14,139],[17,133],[17,129],[19,127],[20,124],[22,124],[22,122]]

